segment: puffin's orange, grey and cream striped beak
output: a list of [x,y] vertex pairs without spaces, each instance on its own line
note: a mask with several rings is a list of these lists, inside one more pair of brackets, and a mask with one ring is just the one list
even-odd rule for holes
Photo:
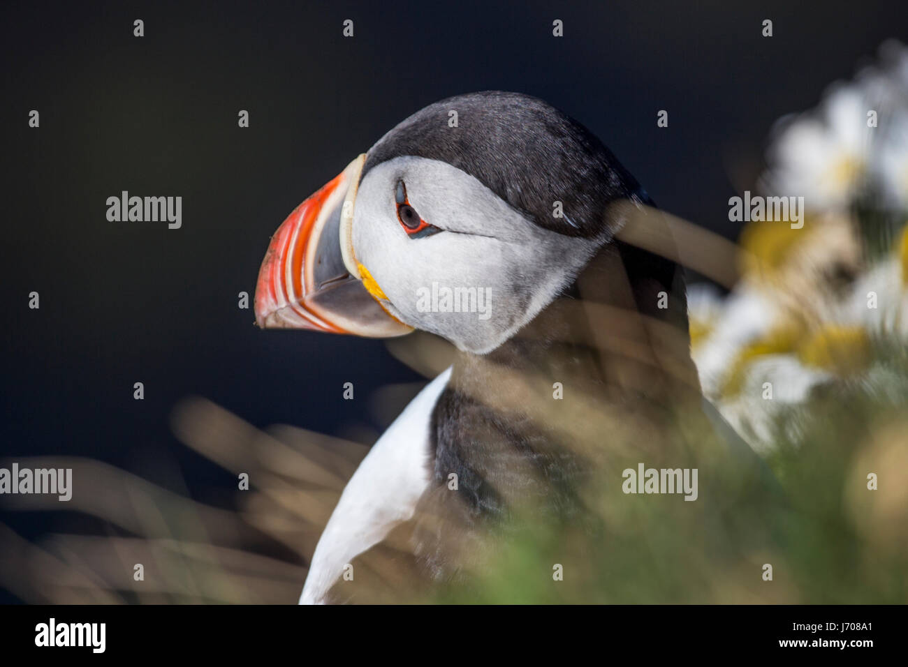
[[[271,237],[255,288],[262,329],[311,329],[388,338],[412,329],[390,316],[347,270],[341,237],[350,236],[365,155],[303,201]],[[349,242],[349,241],[348,241]]]

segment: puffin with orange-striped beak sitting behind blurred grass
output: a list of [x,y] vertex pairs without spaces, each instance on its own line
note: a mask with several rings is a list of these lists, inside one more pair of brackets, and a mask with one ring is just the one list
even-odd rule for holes
[[[596,532],[582,489],[620,484],[598,454],[609,424],[637,425],[658,459],[684,456],[679,407],[721,420],[690,356],[683,267],[620,238],[640,215],[667,233],[586,127],[489,91],[413,113],[283,221],[259,272],[259,327],[419,330],[454,348],[350,478],[300,603],[390,600],[370,597],[360,570],[345,576],[388,544],[408,574],[385,593],[469,585],[518,508]],[[459,307],[427,298],[439,293]]]

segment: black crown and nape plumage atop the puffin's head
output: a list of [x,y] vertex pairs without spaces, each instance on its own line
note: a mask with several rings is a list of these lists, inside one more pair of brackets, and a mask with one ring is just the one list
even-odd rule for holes
[[[457,127],[450,127],[450,112]],[[595,135],[548,103],[487,91],[429,104],[385,134],[363,167],[401,155],[467,172],[540,227],[593,238],[615,231],[609,203],[646,201],[637,181]],[[561,202],[563,217],[553,215]]]

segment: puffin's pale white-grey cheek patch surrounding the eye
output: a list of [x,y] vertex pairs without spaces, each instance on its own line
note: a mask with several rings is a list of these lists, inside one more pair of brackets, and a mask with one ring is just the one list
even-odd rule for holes
[[[445,231],[408,238],[394,202],[398,180],[419,216]],[[366,174],[351,227],[356,259],[391,314],[478,354],[536,317],[598,246],[538,227],[446,162],[410,156]]]

